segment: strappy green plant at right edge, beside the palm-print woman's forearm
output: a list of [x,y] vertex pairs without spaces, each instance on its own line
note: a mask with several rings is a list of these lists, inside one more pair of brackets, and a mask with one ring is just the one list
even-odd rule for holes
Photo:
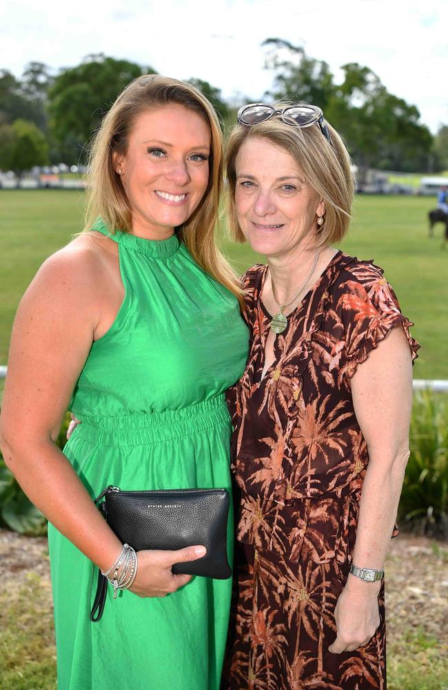
[[412,531],[448,538],[448,397],[414,397],[407,464],[398,517]]

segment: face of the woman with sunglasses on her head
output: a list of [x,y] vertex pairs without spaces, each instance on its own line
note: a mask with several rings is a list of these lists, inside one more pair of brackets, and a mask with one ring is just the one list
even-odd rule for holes
[[[236,157],[235,206],[252,248],[285,257],[312,240],[325,204],[307,184],[296,161],[267,139],[245,139]],[[309,234],[311,233],[311,234]]]

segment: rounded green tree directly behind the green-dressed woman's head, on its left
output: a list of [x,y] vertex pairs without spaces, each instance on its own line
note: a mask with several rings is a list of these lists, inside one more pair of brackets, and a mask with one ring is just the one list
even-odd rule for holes
[[80,65],[64,69],[48,92],[52,134],[73,162],[85,152],[85,144],[119,92],[132,79],[154,74],[128,60],[88,55]]

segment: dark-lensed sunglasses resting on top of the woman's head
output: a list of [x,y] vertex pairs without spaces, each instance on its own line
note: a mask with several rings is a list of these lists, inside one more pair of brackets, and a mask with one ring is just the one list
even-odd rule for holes
[[251,126],[265,122],[274,115],[280,115],[282,122],[296,127],[311,127],[317,124],[325,139],[329,144],[332,143],[322,110],[309,103],[298,103],[296,106],[285,106],[285,108],[276,108],[269,103],[249,103],[238,110],[236,117],[239,124]]

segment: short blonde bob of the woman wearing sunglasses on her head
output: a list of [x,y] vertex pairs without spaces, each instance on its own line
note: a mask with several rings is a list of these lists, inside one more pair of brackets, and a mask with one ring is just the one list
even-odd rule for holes
[[[282,106],[285,103],[281,103]],[[327,123],[332,143],[319,126],[296,127],[272,117],[252,126],[237,124],[227,140],[227,224],[235,242],[245,242],[235,207],[236,157],[247,139],[265,139],[292,155],[309,185],[325,201],[323,225],[317,224],[316,248],[339,242],[347,232],[354,197],[351,160],[338,132]],[[281,175],[281,171],[278,171]]]

